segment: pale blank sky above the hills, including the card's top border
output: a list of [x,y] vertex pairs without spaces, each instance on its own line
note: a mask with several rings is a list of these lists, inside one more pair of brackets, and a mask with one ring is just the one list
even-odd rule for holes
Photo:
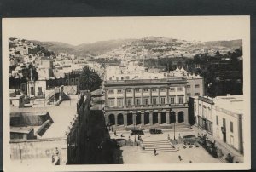
[[3,36],[78,45],[125,38],[241,39],[247,16],[6,18]]

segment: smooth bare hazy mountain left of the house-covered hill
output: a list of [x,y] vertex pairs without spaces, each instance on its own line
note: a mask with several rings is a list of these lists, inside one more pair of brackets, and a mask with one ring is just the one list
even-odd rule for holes
[[82,43],[77,46],[61,42],[40,42],[32,40],[32,43],[43,46],[46,49],[52,50],[55,53],[68,53],[77,56],[86,54],[104,54],[113,49],[118,49],[121,45],[134,41],[135,39],[118,39],[109,41],[99,41],[96,43]]

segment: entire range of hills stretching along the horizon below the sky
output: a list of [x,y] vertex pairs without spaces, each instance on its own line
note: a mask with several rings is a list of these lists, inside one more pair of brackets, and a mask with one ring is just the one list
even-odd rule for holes
[[[73,46],[68,43],[61,42],[40,42],[31,41],[58,53],[74,54],[76,56],[100,55],[111,52],[115,49],[122,48],[122,51],[127,54],[137,54],[141,49],[145,48],[154,53],[160,54],[163,52],[172,52],[172,46],[180,47],[181,49],[230,49],[231,51],[242,46],[241,39],[231,41],[211,41],[211,42],[188,42],[185,40],[173,39],[169,37],[144,37],[142,39],[118,39],[109,41],[99,41],[96,43],[82,43]],[[165,48],[167,46],[167,48]],[[178,48],[177,48],[178,49]]]

